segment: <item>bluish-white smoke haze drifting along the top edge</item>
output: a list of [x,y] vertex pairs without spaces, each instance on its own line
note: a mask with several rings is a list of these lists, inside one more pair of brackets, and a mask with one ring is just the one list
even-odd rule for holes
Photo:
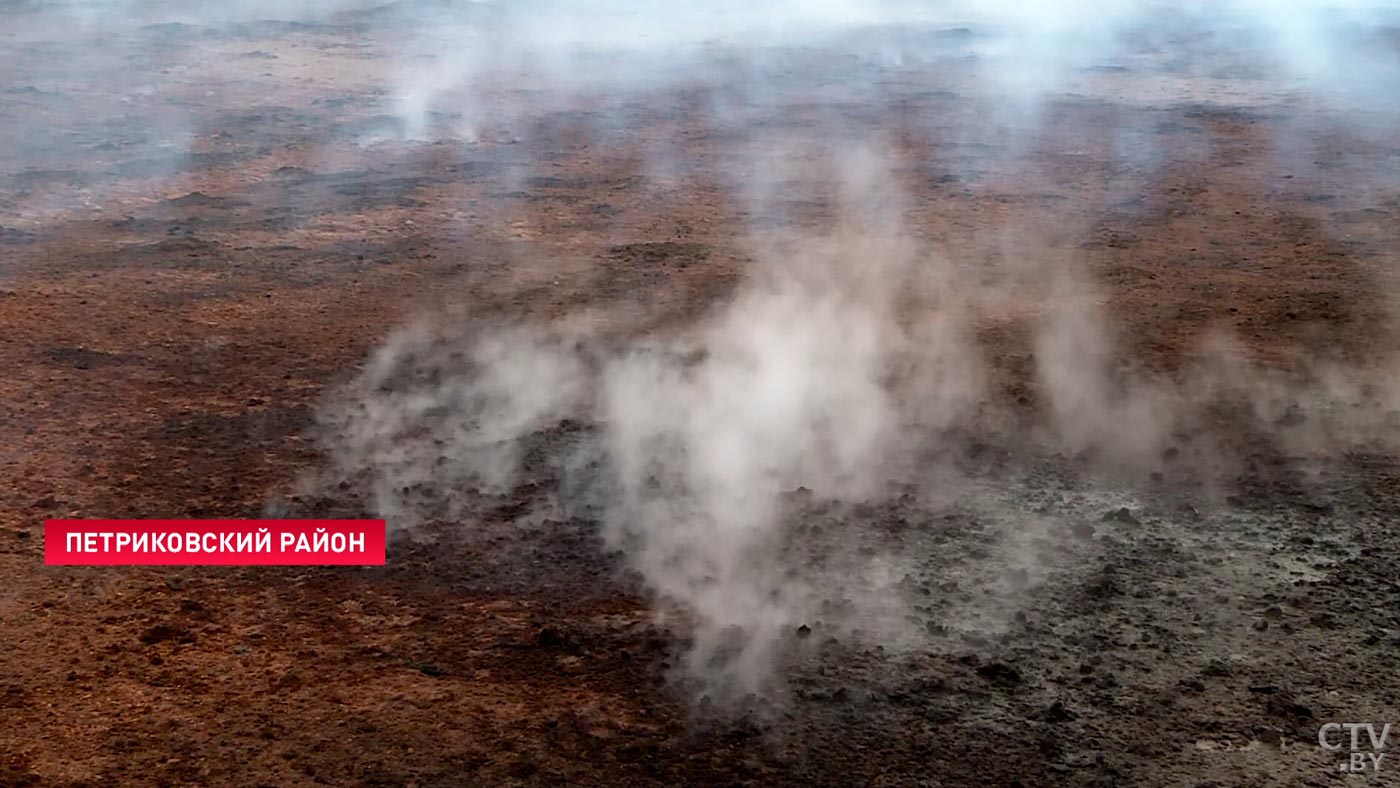
[[[217,132],[199,129],[182,106],[232,108],[246,101],[224,92],[237,78],[260,78],[270,91],[263,101],[276,101],[295,81],[316,78],[304,76],[301,63],[232,50],[218,63],[185,62],[192,39],[237,42],[267,31],[344,32],[357,46],[386,55],[384,66],[340,74],[346,87],[363,91],[357,101],[371,101],[393,118],[392,126],[356,134],[368,146],[519,136],[539,115],[578,101],[601,102],[599,130],[626,134],[627,97],[676,88],[715,90],[710,109],[721,119],[727,105],[777,111],[797,98],[790,92],[797,71],[830,69],[850,78],[868,64],[937,63],[962,74],[962,88],[983,97],[983,113],[969,123],[969,136],[981,133],[988,120],[1000,120],[1001,136],[1033,134],[1037,112],[1053,97],[1121,99],[1148,87],[1152,94],[1145,98],[1155,102],[1211,102],[1201,88],[1226,80],[1236,83],[1226,98],[1243,105],[1267,108],[1306,97],[1344,108],[1361,125],[1389,123],[1394,102],[1386,99],[1400,76],[1400,4],[1390,0],[766,0],[696,8],[626,0],[13,6],[18,10],[8,41],[83,45],[78,57],[46,63],[52,84],[35,88],[120,99],[109,111],[95,104],[94,120],[104,112],[148,113],[155,139],[140,151],[147,157],[189,155],[202,134]],[[11,52],[32,56],[42,49]],[[813,60],[815,53],[841,60]],[[203,73],[203,95],[155,94],[153,73],[168,70]],[[1124,71],[1134,76],[1131,91],[1117,77]],[[507,95],[512,88],[519,92]],[[725,92],[742,101],[727,102]],[[871,80],[865,94],[872,109],[897,98],[879,80]],[[834,130],[850,130],[833,123]],[[64,141],[49,144],[62,150]]]

